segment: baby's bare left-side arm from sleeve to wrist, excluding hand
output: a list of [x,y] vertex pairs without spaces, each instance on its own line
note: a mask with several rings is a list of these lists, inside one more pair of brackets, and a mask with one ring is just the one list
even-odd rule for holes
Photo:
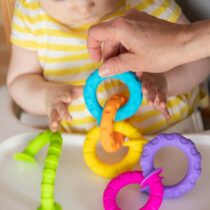
[[7,85],[21,108],[32,114],[46,115],[44,102],[48,84],[43,79],[35,51],[12,46]]

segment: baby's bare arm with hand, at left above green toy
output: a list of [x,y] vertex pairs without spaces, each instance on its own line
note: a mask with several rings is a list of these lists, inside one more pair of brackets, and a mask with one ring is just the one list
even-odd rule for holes
[[82,94],[82,88],[45,81],[35,51],[12,46],[7,85],[15,102],[25,111],[49,117],[52,130],[70,119],[67,105]]

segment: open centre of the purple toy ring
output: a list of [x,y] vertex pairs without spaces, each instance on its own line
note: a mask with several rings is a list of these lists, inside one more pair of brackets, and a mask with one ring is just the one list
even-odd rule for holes
[[155,168],[163,168],[163,184],[171,186],[179,183],[187,174],[188,158],[176,147],[161,148],[154,158]]

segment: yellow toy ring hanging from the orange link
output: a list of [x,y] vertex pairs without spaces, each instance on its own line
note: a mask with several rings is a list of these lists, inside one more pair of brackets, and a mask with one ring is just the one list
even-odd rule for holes
[[147,142],[139,133],[137,128],[126,122],[116,122],[114,131],[128,137],[128,141],[123,146],[128,147],[128,152],[123,160],[108,164],[98,159],[96,154],[96,145],[100,138],[100,128],[92,128],[86,136],[83,144],[84,160],[88,167],[97,175],[113,178],[118,174],[131,170],[139,161],[143,150],[143,145]]

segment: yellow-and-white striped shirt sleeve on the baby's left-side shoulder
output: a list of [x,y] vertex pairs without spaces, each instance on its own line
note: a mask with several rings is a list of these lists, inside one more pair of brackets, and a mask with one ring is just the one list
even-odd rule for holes
[[19,47],[37,50],[37,40],[34,35],[35,23],[31,20],[32,10],[27,8],[24,0],[16,0],[13,21],[11,43]]

